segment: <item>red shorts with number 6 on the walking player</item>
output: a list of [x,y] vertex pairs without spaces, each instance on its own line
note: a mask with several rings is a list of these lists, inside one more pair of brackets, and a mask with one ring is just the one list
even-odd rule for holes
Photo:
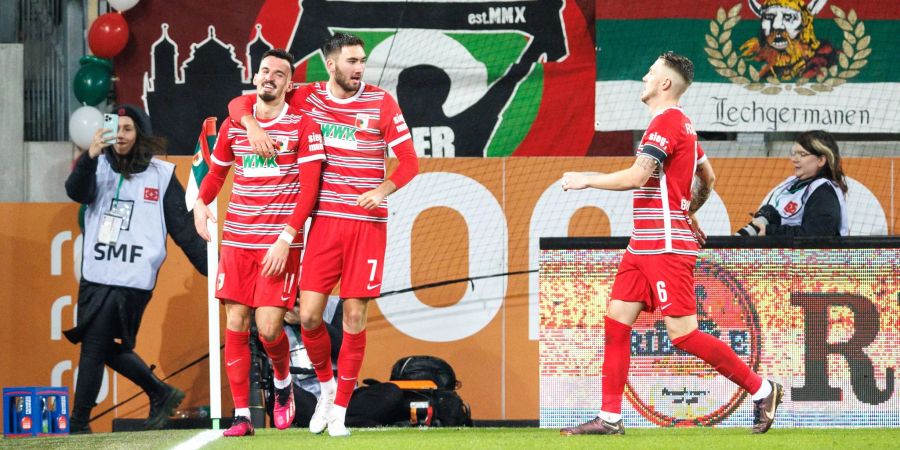
[[661,253],[635,255],[625,251],[619,263],[611,298],[642,302],[649,312],[659,308],[664,316],[697,314],[694,293],[696,256]]

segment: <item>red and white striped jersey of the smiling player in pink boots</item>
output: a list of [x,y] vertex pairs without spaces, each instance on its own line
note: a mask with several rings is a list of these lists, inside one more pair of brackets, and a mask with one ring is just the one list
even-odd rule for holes
[[[319,126],[300,110],[285,104],[278,117],[257,121],[275,141],[276,155],[255,155],[247,142],[247,130],[227,119],[219,129],[210,173],[203,180],[203,184],[221,183],[234,166],[222,245],[268,249],[284,230],[299,199],[300,164],[325,159]],[[200,197],[208,204],[212,198],[205,197],[214,197],[221,184],[211,194],[204,187]],[[303,248],[302,229],[297,230],[291,248]]]

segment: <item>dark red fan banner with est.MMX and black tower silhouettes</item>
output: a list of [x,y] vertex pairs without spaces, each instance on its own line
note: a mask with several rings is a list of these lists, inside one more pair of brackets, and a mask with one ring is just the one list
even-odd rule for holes
[[[328,79],[336,32],[365,42],[363,81],[399,102],[421,156],[583,156],[593,138],[593,0],[141,2],[116,57],[120,100],[142,103],[192,154],[196,130],[253,92],[262,54],[285,48],[293,80]],[[131,20],[133,18],[133,20]],[[560,124],[567,124],[566,127]]]

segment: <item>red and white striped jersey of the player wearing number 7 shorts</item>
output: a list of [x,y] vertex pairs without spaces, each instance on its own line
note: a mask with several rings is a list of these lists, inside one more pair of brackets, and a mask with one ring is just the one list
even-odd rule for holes
[[411,145],[412,136],[397,101],[387,91],[362,82],[353,97],[335,98],[324,81],[300,87],[288,101],[322,128],[328,158],[322,166],[319,204],[313,214],[386,222],[386,198],[372,210],[357,206],[356,200],[384,181],[387,149],[406,141]]

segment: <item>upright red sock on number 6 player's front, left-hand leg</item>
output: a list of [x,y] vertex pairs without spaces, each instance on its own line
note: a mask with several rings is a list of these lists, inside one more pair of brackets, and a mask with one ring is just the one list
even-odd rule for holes
[[607,316],[603,320],[606,340],[603,343],[602,411],[622,413],[622,393],[631,366],[631,327]]

